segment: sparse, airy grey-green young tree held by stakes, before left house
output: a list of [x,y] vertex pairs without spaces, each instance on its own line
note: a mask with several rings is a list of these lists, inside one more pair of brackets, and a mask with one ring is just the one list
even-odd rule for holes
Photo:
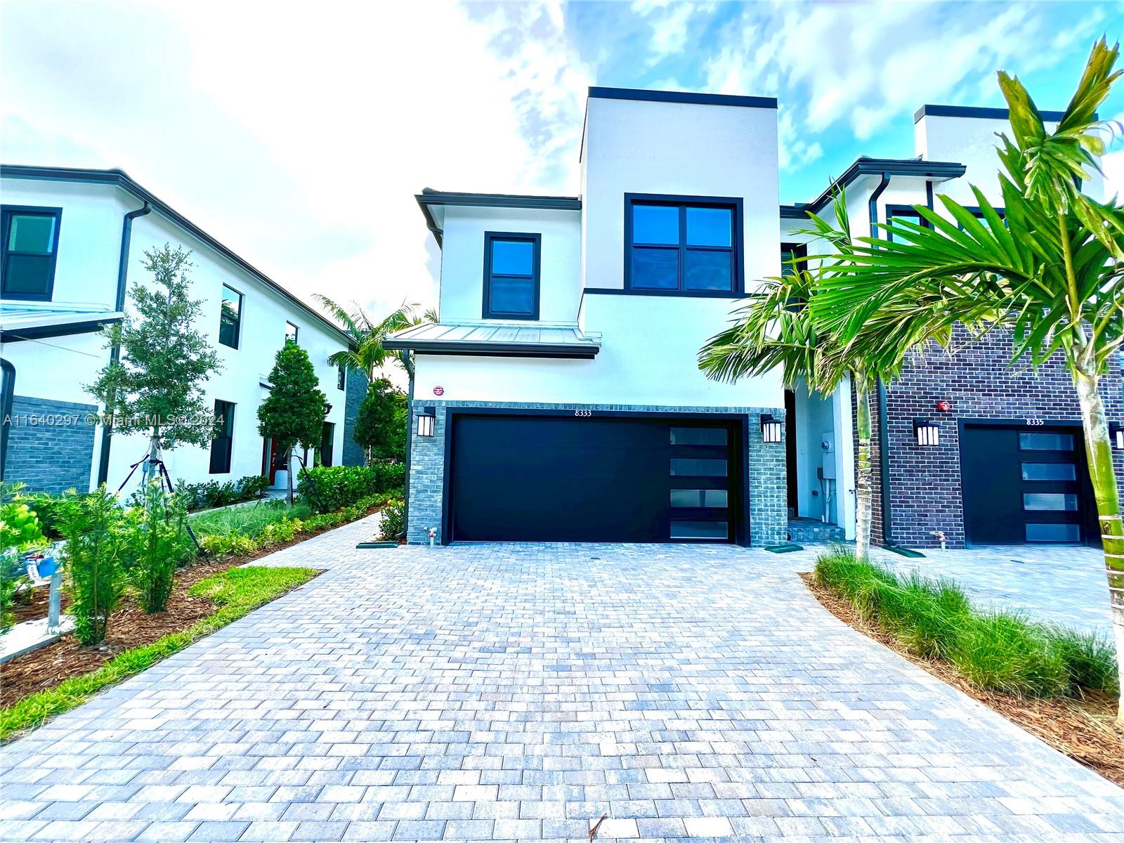
[[189,296],[189,252],[169,244],[145,252],[153,285],[133,285],[135,314],[126,311],[123,321],[105,330],[107,344],[123,355],[87,387],[115,422],[147,428],[145,479],[161,450],[206,446],[215,433],[203,384],[219,370],[219,362],[207,337],[194,328],[202,302]]

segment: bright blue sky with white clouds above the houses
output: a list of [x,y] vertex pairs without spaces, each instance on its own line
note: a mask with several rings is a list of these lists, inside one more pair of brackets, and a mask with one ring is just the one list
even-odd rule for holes
[[[1061,107],[1122,18],[1095,2],[0,0],[0,157],[121,167],[296,294],[386,312],[436,301],[422,188],[577,193],[589,85],[778,97],[781,199],[804,201],[859,154],[912,155],[925,102],[1001,105],[998,67]],[[1104,111],[1124,116],[1124,84]]]

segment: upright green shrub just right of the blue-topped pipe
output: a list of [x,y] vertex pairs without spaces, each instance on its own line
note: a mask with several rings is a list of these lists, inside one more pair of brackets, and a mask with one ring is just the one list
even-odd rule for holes
[[129,531],[117,496],[101,487],[64,498],[58,526],[66,545],[63,570],[71,596],[74,634],[85,645],[106,637],[109,616],[125,587]]

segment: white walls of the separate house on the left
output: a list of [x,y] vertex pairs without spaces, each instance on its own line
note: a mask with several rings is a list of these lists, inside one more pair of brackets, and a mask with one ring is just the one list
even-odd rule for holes
[[[139,208],[140,200],[107,184],[3,179],[0,201],[4,205],[62,208],[52,301],[58,305],[98,303],[112,309],[117,296],[123,218],[127,211]],[[236,405],[230,472],[210,474],[209,448],[181,446],[164,454],[173,479],[225,482],[261,473],[262,437],[257,433],[257,406],[268,393],[261,381],[269,374],[273,356],[284,342],[285,321],[298,326],[299,344],[308,352],[320,380],[320,389],[332,404],[326,420],[335,424],[333,464],[341,464],[345,393],[336,389],[336,370],[328,364],[327,357],[345,347],[343,338],[157,211],[133,221],[129,287],[147,274],[144,271],[144,252],[165,243],[192,252],[191,296],[203,301],[199,327],[218,351],[223,364],[223,370],[207,383],[207,404],[214,407],[215,400],[221,399]],[[244,296],[238,350],[218,342],[224,283]],[[98,334],[6,343],[2,353],[16,366],[16,395],[91,405],[97,402],[83,387],[92,383],[109,362],[109,351]],[[94,437],[91,488],[97,483],[101,433],[99,428]],[[140,459],[145,448],[144,435],[115,433],[108,477],[111,489],[125,479],[128,466]]]

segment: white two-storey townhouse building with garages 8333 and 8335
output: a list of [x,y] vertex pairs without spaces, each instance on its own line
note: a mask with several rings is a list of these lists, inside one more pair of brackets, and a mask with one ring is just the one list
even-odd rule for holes
[[[916,157],[839,179],[853,234],[941,193],[969,201],[969,179],[997,201],[1005,119],[923,108]],[[579,197],[417,197],[441,320],[386,343],[417,355],[409,541],[852,538],[850,384],[697,368],[758,280],[807,248],[806,211],[831,212],[830,189],[779,205],[776,101],[591,88],[580,178]],[[1009,344],[915,355],[876,390],[876,541],[1096,540],[1068,377],[1060,361],[1008,371]],[[1118,371],[1105,397],[1124,420]]]

